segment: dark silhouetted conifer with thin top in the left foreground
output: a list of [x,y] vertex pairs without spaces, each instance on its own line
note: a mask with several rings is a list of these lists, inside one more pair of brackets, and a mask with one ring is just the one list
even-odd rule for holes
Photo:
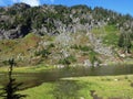
[[14,59],[9,59],[9,82],[7,84],[7,86],[4,88],[2,88],[2,92],[0,94],[0,97],[4,98],[4,99],[21,99],[24,98],[25,95],[21,95],[18,94],[19,87],[22,85],[22,82],[17,84],[16,79],[12,78],[12,70],[13,70],[13,66],[14,66]]

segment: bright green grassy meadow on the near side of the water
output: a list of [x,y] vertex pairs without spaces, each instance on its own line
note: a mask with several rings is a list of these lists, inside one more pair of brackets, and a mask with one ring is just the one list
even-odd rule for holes
[[25,99],[93,99],[91,91],[103,99],[132,99],[133,75],[123,76],[88,76],[62,78],[54,82],[29,88],[21,94]]

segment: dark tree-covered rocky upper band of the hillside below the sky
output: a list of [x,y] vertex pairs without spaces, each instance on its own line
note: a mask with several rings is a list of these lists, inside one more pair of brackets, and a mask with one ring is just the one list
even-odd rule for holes
[[0,40],[23,37],[31,32],[38,35],[58,35],[86,32],[105,24],[120,26],[123,18],[130,20],[132,25],[132,18],[102,8],[92,10],[86,6],[68,8],[47,4],[31,8],[25,3],[16,3],[0,8]]

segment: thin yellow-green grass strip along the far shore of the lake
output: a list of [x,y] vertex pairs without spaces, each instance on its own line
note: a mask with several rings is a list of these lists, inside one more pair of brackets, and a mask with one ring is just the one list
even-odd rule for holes
[[[109,63],[105,63],[101,66],[116,66],[116,65],[133,65],[133,62],[130,61],[130,62],[109,62]],[[76,65],[74,65],[76,66]],[[79,65],[78,65],[79,66]],[[80,65],[81,66],[81,65]],[[72,65],[70,65],[70,67],[73,67]],[[19,67],[14,67],[13,68],[13,72],[14,73],[40,73],[40,72],[47,72],[47,70],[50,70],[50,69],[54,69],[54,68],[58,68],[58,65],[57,66],[52,66],[52,65],[44,65],[44,64],[41,64],[41,65],[37,65],[37,66],[19,66]],[[9,66],[2,66],[0,67],[0,73],[6,73],[8,72],[9,69]]]

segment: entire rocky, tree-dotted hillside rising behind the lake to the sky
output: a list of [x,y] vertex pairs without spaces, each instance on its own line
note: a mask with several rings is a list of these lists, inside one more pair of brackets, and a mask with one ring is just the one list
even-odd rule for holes
[[86,6],[0,8],[0,66],[132,62],[133,18]]

